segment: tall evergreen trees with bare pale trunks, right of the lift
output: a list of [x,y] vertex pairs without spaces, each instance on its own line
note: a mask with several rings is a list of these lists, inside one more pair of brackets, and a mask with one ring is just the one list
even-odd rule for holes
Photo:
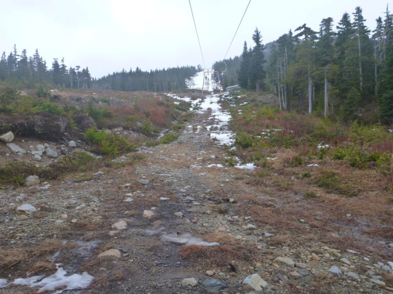
[[378,106],[381,121],[393,120],[393,15],[388,8],[373,32],[356,7],[335,29],[328,17],[318,31],[304,23],[266,45],[258,29],[252,39],[254,46],[244,43],[236,68],[241,87],[274,91],[283,110],[340,114],[346,121],[366,112],[366,103]]

